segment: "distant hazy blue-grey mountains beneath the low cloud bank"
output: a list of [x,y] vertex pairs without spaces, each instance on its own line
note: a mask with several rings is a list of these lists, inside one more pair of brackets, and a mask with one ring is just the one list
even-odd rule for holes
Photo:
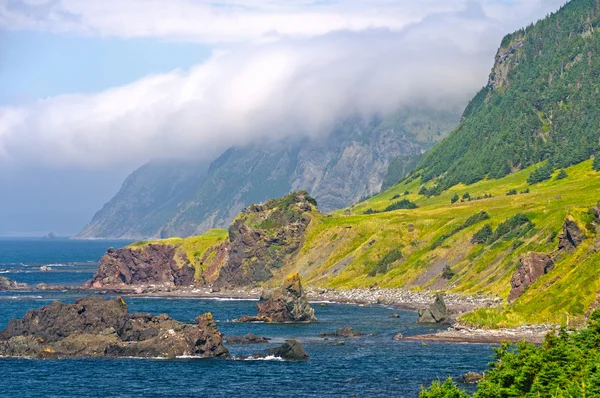
[[[399,181],[415,157],[458,123],[459,112],[411,109],[386,118],[353,118],[321,138],[230,148],[208,167],[150,162],[79,233],[78,238],[190,236],[226,227],[242,209],[305,189],[331,211]],[[408,167],[389,169],[390,163]]]

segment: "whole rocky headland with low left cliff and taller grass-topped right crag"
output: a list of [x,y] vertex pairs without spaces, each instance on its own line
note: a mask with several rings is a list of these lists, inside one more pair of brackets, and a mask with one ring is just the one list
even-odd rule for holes
[[172,240],[109,249],[86,287],[255,285],[271,279],[302,246],[316,211],[316,201],[300,191],[248,207],[232,222],[227,239],[208,242],[202,253]]

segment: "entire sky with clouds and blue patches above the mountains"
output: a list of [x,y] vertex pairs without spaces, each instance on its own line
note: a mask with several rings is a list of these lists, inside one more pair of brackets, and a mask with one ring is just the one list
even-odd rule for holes
[[154,158],[466,104],[563,0],[0,0],[0,236],[71,235]]

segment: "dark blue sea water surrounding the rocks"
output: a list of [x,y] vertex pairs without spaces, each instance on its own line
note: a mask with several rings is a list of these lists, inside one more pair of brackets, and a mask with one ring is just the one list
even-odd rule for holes
[[[6,267],[6,264],[39,266],[59,262],[75,263],[71,265],[73,269],[85,269],[76,277],[72,275],[74,272],[57,271],[57,282],[53,283],[61,284],[85,281],[95,266],[88,261],[97,261],[110,246],[125,244],[64,241],[57,242],[55,246],[48,241],[36,246],[30,245],[29,241],[14,241],[13,248],[7,250],[5,242],[0,241],[0,262],[4,264],[0,268]],[[29,249],[15,250],[15,247]],[[4,260],[7,252],[12,253],[10,261]],[[39,278],[50,275],[47,272],[38,274],[28,278],[37,283],[42,281]],[[7,276],[16,280],[22,277],[19,281],[25,282],[25,275],[15,272]],[[54,300],[73,302],[79,297],[82,297],[80,293],[72,291],[2,292],[0,329],[10,319],[22,317],[29,309],[48,305]],[[126,302],[132,312],[167,313],[189,323],[193,323],[197,315],[211,312],[225,335],[252,332],[272,339],[268,344],[230,345],[228,347],[234,356],[264,352],[286,338],[297,338],[311,359],[294,363],[226,359],[0,358],[0,396],[416,397],[421,385],[428,385],[437,378],[458,378],[468,371],[485,370],[493,353],[492,346],[485,344],[393,341],[392,336],[397,332],[413,335],[430,329],[415,323],[415,313],[384,306],[314,303],[319,319],[316,323],[268,325],[231,322],[242,315],[255,313],[256,302],[249,300],[130,297],[126,298]],[[398,313],[399,318],[391,318],[393,313]],[[321,332],[333,332],[342,326],[352,326],[376,335],[343,339],[344,345],[336,344],[340,339],[325,341],[319,336]]]

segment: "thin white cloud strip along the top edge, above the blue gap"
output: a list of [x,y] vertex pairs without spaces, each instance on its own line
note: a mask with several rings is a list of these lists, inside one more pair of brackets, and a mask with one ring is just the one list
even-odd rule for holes
[[[473,0],[18,0],[0,2],[0,26],[118,37],[247,41],[336,30],[400,30]],[[563,0],[481,0],[499,19],[527,18]],[[527,20],[523,19],[523,23]]]

